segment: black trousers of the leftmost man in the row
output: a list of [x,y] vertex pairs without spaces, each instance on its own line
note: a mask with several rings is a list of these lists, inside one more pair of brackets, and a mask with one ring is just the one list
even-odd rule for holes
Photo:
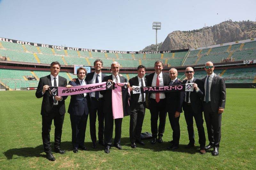
[[51,143],[50,143],[50,131],[52,126],[52,120],[54,122],[54,148],[60,147],[62,125],[64,121],[64,116],[60,115],[59,107],[53,107],[52,111],[48,115],[42,115],[42,139],[44,145],[44,152],[46,154],[52,153]]

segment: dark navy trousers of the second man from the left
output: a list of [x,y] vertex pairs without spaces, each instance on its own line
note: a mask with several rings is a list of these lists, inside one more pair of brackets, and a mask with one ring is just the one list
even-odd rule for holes
[[70,114],[70,122],[72,128],[72,145],[74,148],[84,146],[85,129],[88,115],[72,115]]

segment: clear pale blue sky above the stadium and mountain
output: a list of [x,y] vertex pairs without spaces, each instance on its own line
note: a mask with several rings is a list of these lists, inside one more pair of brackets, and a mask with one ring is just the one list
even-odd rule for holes
[[57,46],[139,51],[173,31],[256,20],[255,0],[0,0],[0,37]]

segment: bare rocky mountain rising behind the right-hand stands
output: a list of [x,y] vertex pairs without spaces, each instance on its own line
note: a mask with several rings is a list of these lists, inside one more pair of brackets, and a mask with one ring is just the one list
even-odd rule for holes
[[173,31],[158,50],[198,48],[250,38],[256,38],[255,21],[225,21],[199,30]]

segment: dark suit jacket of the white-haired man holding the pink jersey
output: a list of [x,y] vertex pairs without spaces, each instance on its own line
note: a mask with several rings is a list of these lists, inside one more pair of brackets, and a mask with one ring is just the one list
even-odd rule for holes
[[[120,83],[126,83],[127,79],[119,76]],[[106,82],[108,80],[113,80],[112,74],[110,76],[105,76],[102,82]],[[100,94],[103,95],[103,109],[106,112],[112,113],[112,90],[102,90]]]

